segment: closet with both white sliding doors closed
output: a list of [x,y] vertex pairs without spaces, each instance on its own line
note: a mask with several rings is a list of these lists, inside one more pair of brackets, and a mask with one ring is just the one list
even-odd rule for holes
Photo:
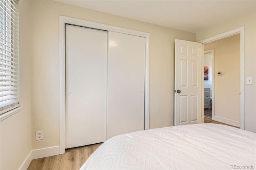
[[144,130],[145,38],[65,26],[65,148]]

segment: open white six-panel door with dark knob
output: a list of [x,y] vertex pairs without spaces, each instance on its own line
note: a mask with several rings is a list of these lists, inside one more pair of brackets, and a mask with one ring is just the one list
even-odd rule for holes
[[174,125],[201,123],[202,44],[175,40]]

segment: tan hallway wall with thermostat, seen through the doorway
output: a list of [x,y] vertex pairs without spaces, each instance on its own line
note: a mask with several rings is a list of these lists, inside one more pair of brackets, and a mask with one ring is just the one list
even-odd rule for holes
[[[214,116],[240,122],[240,34],[204,45],[214,49]],[[222,71],[223,75],[217,75]]]

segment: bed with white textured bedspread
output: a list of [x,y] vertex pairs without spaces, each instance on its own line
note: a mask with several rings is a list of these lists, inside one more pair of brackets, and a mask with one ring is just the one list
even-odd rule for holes
[[223,170],[256,167],[256,133],[219,124],[143,130],[104,142],[80,170]]

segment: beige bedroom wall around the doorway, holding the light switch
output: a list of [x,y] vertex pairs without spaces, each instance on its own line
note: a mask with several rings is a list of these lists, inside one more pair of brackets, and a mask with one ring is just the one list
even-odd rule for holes
[[246,77],[253,77],[254,79],[253,85],[246,85],[246,83],[244,85],[245,129],[256,132],[256,12],[198,32],[196,40],[204,40],[241,26],[244,26],[245,29],[245,79]]

